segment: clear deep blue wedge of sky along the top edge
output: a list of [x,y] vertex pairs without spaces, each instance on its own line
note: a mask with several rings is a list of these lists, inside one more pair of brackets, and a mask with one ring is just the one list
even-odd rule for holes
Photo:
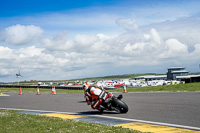
[[[137,1],[137,0],[4,0],[1,1],[1,17],[10,17],[17,15],[36,14],[41,12],[57,12],[66,11],[79,8],[88,7],[112,7],[112,6],[151,6],[154,3],[161,3],[160,1]],[[166,1],[166,4],[173,2]]]

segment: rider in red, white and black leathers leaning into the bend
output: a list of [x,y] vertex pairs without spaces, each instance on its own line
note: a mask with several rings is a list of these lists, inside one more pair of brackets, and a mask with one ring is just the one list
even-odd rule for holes
[[93,109],[104,109],[101,103],[105,101],[106,98],[112,96],[112,94],[108,93],[105,89],[101,89],[96,86],[90,86],[88,83],[83,85],[83,90],[85,92],[88,105],[91,105]]

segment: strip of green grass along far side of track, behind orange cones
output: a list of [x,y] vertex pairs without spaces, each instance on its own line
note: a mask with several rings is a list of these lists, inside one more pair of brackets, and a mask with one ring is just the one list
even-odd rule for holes
[[[4,88],[0,87],[0,93],[2,92],[19,92],[19,88]],[[40,93],[51,93],[51,89],[40,88]],[[109,92],[123,92],[123,88],[108,90]],[[148,87],[134,87],[127,88],[127,92],[177,92],[177,91],[200,91],[200,83],[187,83],[178,85],[164,85],[164,86],[148,86]],[[23,93],[37,93],[36,88],[22,88]],[[83,90],[66,90],[56,89],[56,93],[83,93]]]

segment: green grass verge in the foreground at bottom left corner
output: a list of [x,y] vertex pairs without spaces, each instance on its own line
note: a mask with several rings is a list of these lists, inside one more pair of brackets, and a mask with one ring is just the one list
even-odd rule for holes
[[0,110],[0,120],[1,133],[139,133],[128,128],[21,114],[11,110]]

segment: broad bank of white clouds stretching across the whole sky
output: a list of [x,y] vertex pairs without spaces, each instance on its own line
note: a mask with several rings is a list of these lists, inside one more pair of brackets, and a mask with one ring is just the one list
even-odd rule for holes
[[[194,43],[191,38],[185,38],[190,43],[181,39],[187,34],[194,35],[195,40],[198,39],[199,28],[194,29],[194,23],[192,26],[188,23],[184,28],[182,26],[177,28],[175,33],[179,29],[179,34],[175,34],[172,30],[170,32],[168,29],[164,30],[166,23],[160,24],[161,28],[155,25],[134,27],[135,21],[124,19],[120,24],[127,31],[115,37],[103,33],[93,35],[80,33],[74,39],[69,39],[68,32],[65,31],[53,37],[38,39],[43,31],[34,25],[30,26],[32,28],[23,25],[8,27],[6,29],[9,29],[9,34],[5,32],[6,30],[3,32],[4,41],[7,36],[10,44],[21,45],[27,42],[29,45],[17,49],[0,46],[0,74],[11,75],[20,69],[25,73],[27,80],[70,79],[117,72],[123,74],[130,70],[143,72],[147,67],[149,72],[153,70],[157,72],[157,66],[166,68],[175,62],[174,64],[185,67],[200,60],[200,44]],[[15,28],[23,32],[15,32]],[[188,29],[191,29],[190,33]],[[28,31],[33,31],[33,34],[29,34]],[[8,38],[11,33],[15,37]],[[34,37],[36,33],[38,36]],[[37,45],[32,45],[33,41],[36,41]],[[192,51],[189,51],[189,45],[193,47]]]

